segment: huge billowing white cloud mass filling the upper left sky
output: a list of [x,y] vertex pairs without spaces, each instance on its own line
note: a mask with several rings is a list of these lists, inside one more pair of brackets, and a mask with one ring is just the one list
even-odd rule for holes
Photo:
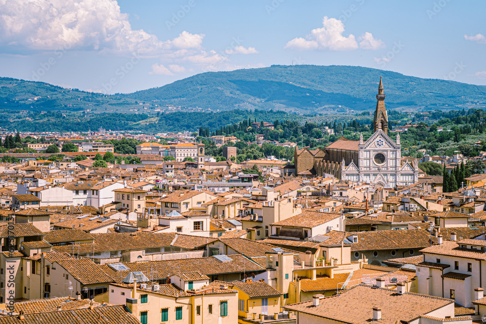
[[157,55],[198,49],[204,34],[161,41],[132,29],[114,0],[0,0],[0,45],[19,50],[73,49]]

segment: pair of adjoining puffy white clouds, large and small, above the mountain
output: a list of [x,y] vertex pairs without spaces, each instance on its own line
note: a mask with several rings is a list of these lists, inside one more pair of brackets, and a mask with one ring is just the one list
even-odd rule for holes
[[347,36],[344,33],[344,23],[336,18],[322,19],[322,28],[316,28],[310,34],[296,37],[285,45],[285,49],[297,51],[329,50],[329,51],[353,51],[361,47],[364,50],[377,50],[385,46],[380,39],[375,39],[371,33],[364,33],[356,41],[353,34]]

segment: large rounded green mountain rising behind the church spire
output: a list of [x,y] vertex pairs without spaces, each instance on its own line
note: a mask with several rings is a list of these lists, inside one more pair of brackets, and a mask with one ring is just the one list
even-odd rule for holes
[[367,110],[376,101],[380,76],[390,108],[486,102],[483,85],[422,79],[374,68],[311,65],[206,72],[125,96],[212,110],[257,108],[319,113],[338,105]]

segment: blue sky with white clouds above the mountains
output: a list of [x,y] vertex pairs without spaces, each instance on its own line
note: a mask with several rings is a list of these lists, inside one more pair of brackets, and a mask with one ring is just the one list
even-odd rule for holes
[[104,93],[353,65],[486,85],[485,1],[0,0],[0,76]]

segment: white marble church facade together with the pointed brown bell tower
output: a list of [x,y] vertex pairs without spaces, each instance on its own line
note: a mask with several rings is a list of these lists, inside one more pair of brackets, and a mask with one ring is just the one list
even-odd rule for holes
[[341,163],[341,179],[369,183],[379,188],[409,186],[418,182],[417,161],[401,162],[400,135],[394,141],[388,136],[388,116],[380,77],[374,115],[374,133],[366,141],[360,136],[358,161]]

